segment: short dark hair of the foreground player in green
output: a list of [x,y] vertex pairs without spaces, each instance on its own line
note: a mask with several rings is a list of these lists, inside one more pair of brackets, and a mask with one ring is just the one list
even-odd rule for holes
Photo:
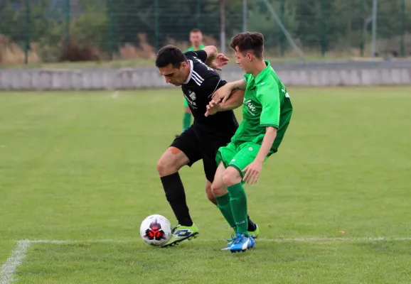
[[262,58],[262,52],[264,51],[264,35],[262,33],[250,33],[244,32],[235,35],[231,39],[230,47],[245,55],[247,51],[252,51],[257,58]]

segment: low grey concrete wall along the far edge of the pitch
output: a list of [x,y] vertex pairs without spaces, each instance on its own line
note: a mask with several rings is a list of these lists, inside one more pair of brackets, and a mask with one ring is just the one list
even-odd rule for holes
[[[287,86],[411,85],[411,65],[369,67],[287,67],[275,68]],[[229,67],[225,80],[239,80],[243,72]],[[167,87],[154,68],[95,70],[0,70],[0,89],[137,89]]]

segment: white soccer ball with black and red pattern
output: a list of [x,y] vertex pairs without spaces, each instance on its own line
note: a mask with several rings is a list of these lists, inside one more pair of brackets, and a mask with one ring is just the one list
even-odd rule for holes
[[171,224],[169,220],[159,214],[146,217],[140,226],[140,236],[151,246],[161,246],[169,241]]

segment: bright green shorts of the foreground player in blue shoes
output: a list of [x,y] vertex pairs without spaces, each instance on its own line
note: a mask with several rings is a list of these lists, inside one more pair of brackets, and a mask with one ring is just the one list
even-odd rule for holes
[[[230,142],[227,146],[218,149],[215,160],[217,161],[217,165],[223,162],[225,168],[228,166],[236,168],[238,172],[240,172],[241,177],[244,178],[245,172],[242,172],[242,170],[255,160],[260,148],[260,144],[253,142],[241,144]],[[267,155],[267,158],[269,155],[270,153]],[[265,158],[265,160],[267,160],[267,158]]]

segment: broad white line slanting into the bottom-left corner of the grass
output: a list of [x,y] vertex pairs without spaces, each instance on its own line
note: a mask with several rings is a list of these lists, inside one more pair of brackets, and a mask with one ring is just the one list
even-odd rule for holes
[[26,251],[30,244],[31,241],[27,240],[17,242],[16,248],[11,252],[11,256],[7,258],[6,263],[1,266],[0,284],[9,284],[13,282],[14,271],[16,271],[17,266],[23,263],[23,259],[26,256]]

